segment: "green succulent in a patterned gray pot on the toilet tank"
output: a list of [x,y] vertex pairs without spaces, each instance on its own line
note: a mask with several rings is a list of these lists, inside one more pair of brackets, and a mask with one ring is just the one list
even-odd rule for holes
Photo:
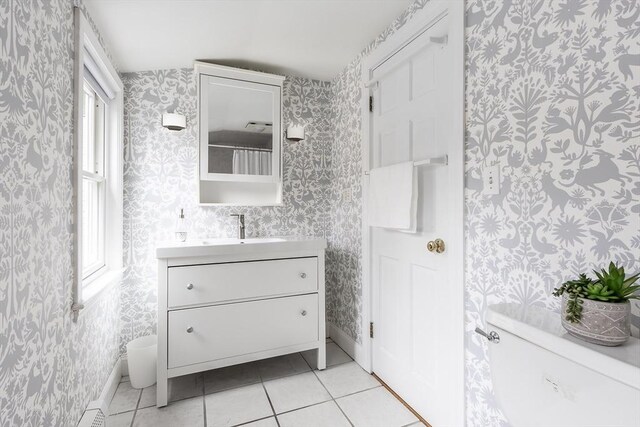
[[631,334],[629,300],[640,299],[640,278],[635,274],[625,278],[624,268],[611,262],[609,271],[593,271],[597,279],[580,274],[569,280],[553,295],[562,296],[562,326],[571,334],[594,344],[616,346]]

